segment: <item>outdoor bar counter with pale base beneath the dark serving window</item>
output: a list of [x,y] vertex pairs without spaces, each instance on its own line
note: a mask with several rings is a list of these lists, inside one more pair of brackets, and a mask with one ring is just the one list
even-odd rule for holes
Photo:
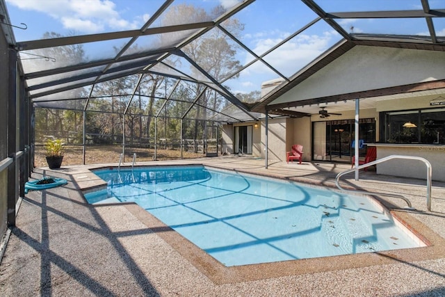
[[[432,180],[445,182],[445,145],[366,143],[377,147],[377,159],[391,154],[421,156],[431,163]],[[419,160],[393,159],[376,165],[380,175],[426,179],[426,165]]]

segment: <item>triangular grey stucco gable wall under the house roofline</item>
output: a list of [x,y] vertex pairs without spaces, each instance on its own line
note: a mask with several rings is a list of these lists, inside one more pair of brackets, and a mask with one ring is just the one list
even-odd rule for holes
[[442,51],[357,46],[273,104],[445,79],[444,69]]

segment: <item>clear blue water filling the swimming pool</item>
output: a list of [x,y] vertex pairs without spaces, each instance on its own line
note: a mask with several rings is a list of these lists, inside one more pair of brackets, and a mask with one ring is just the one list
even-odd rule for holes
[[225,266],[419,246],[362,196],[204,166],[95,174],[88,202],[136,202]]

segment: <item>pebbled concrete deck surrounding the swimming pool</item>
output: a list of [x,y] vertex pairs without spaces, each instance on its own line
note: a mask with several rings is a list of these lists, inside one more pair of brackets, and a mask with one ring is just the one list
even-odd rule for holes
[[[224,156],[138,165],[203,163],[334,186],[348,164],[270,162]],[[403,194],[416,211],[395,212],[432,243],[426,248],[225,267],[136,204],[86,203],[80,189],[104,186],[88,168],[35,169],[69,183],[31,191],[20,203],[0,264],[0,296],[444,296],[445,183],[360,172],[341,184]],[[433,164],[434,166],[434,164]],[[419,170],[424,170],[419,168]],[[405,207],[400,199],[382,203]]]

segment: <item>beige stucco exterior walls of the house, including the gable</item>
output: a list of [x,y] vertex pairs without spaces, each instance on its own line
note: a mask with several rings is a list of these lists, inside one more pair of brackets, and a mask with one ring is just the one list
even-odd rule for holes
[[[366,71],[361,71],[363,69]],[[445,53],[443,52],[357,46],[275,99],[273,104],[445,79],[443,69],[445,69]],[[266,93],[268,88],[274,88],[279,83],[280,79],[268,81],[264,84],[263,91]],[[361,99],[359,118],[375,119],[375,141],[380,141],[380,122],[385,120],[379,118],[380,112],[426,109],[432,107],[430,101],[437,97],[439,97],[437,93],[422,96],[407,93],[382,97],[377,101],[364,98]],[[327,105],[327,110],[330,110],[329,106],[330,104]],[[371,106],[375,107],[371,108]],[[285,161],[286,152],[291,150],[291,146],[301,144],[304,147],[303,161],[312,161],[314,159],[312,122],[354,119],[355,109],[351,109],[350,105],[348,107],[350,110],[339,111],[341,115],[332,115],[325,119],[321,119],[316,113],[311,117],[268,120],[268,159]],[[246,125],[246,123],[238,125]],[[231,137],[230,141],[227,141],[227,145],[230,146],[228,152],[233,152],[233,127],[230,133],[227,133],[227,137],[229,135]],[[258,129],[253,130],[252,142],[252,155],[265,158],[264,120],[261,121]]]

